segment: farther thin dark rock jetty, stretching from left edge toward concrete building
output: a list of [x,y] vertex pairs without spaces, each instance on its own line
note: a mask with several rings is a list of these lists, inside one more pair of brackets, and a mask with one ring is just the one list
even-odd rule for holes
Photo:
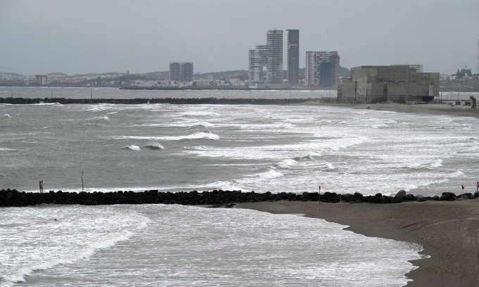
[[0,103],[13,105],[33,103],[61,103],[68,104],[147,104],[147,103],[170,103],[173,105],[285,105],[289,103],[304,103],[313,101],[311,98],[0,98]]

